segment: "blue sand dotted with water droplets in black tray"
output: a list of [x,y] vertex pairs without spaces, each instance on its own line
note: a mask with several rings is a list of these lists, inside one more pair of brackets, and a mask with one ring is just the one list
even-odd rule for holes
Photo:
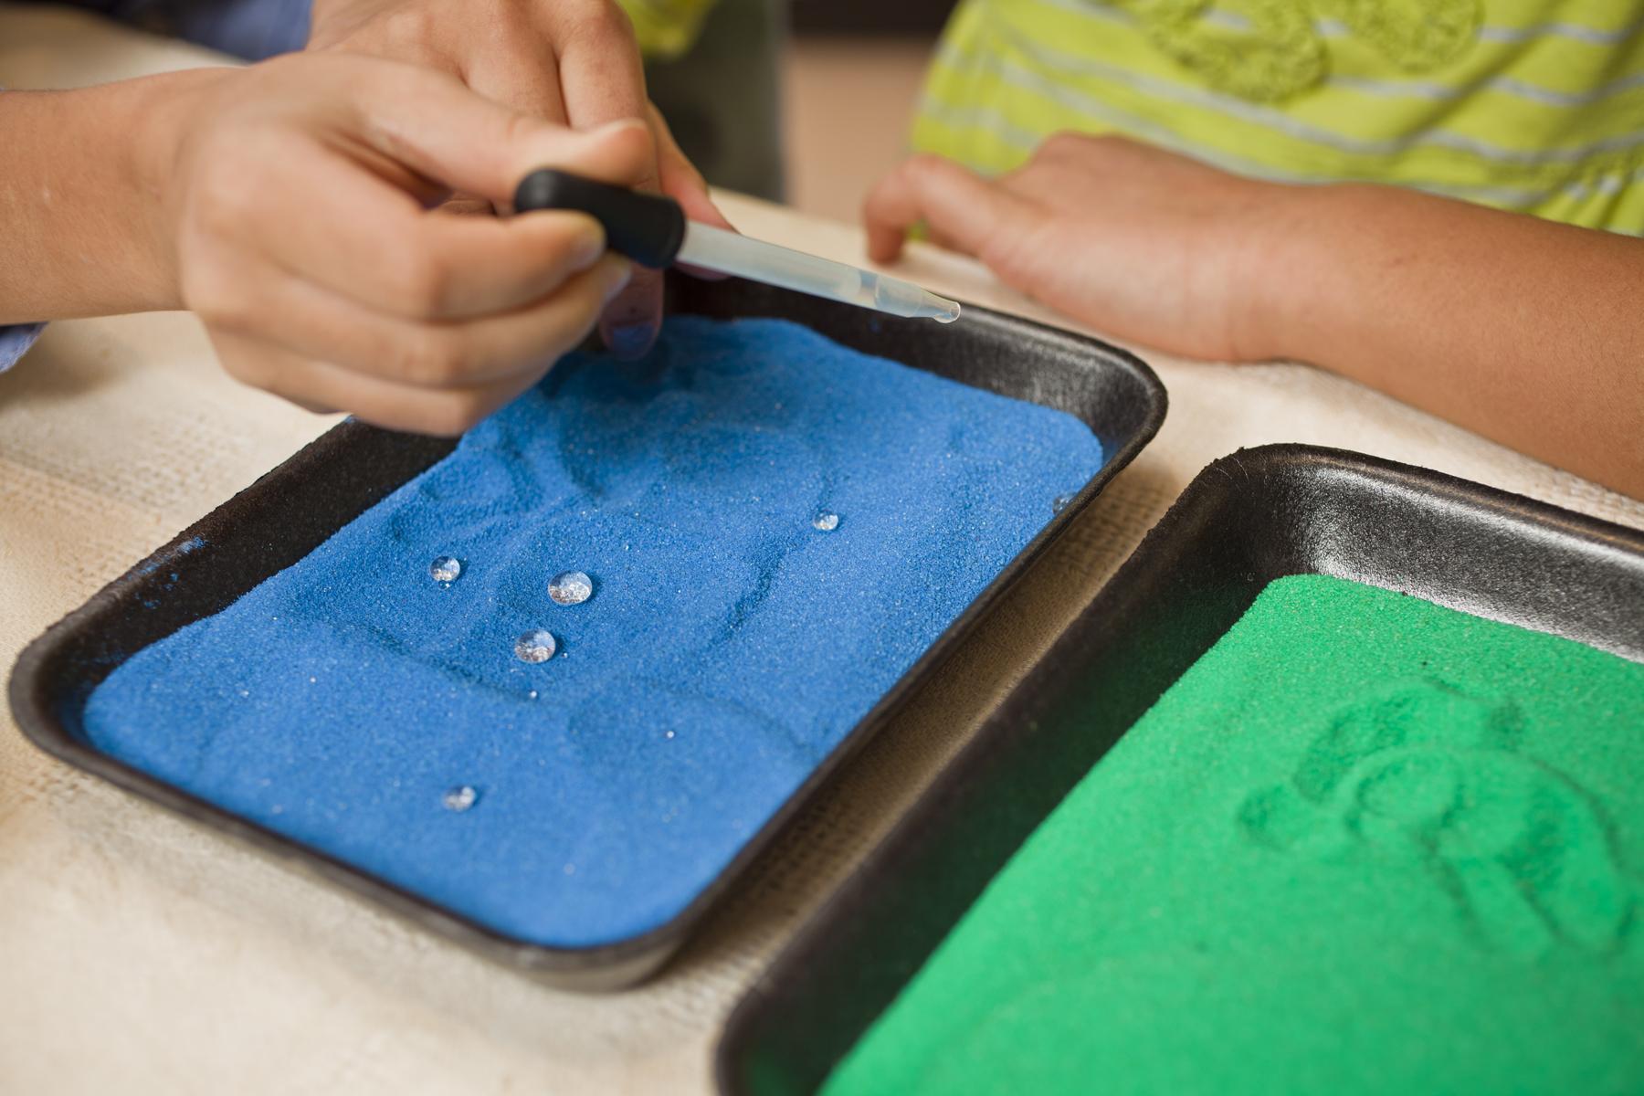
[[[679,914],[1101,467],[1090,431],[792,324],[564,360],[92,695],[138,769],[533,943]],[[838,527],[812,526],[820,511]],[[449,587],[427,567],[462,560]],[[549,580],[593,577],[554,605]],[[562,656],[513,656],[546,628]],[[531,692],[536,690],[536,698]],[[465,812],[446,790],[472,785]]]

